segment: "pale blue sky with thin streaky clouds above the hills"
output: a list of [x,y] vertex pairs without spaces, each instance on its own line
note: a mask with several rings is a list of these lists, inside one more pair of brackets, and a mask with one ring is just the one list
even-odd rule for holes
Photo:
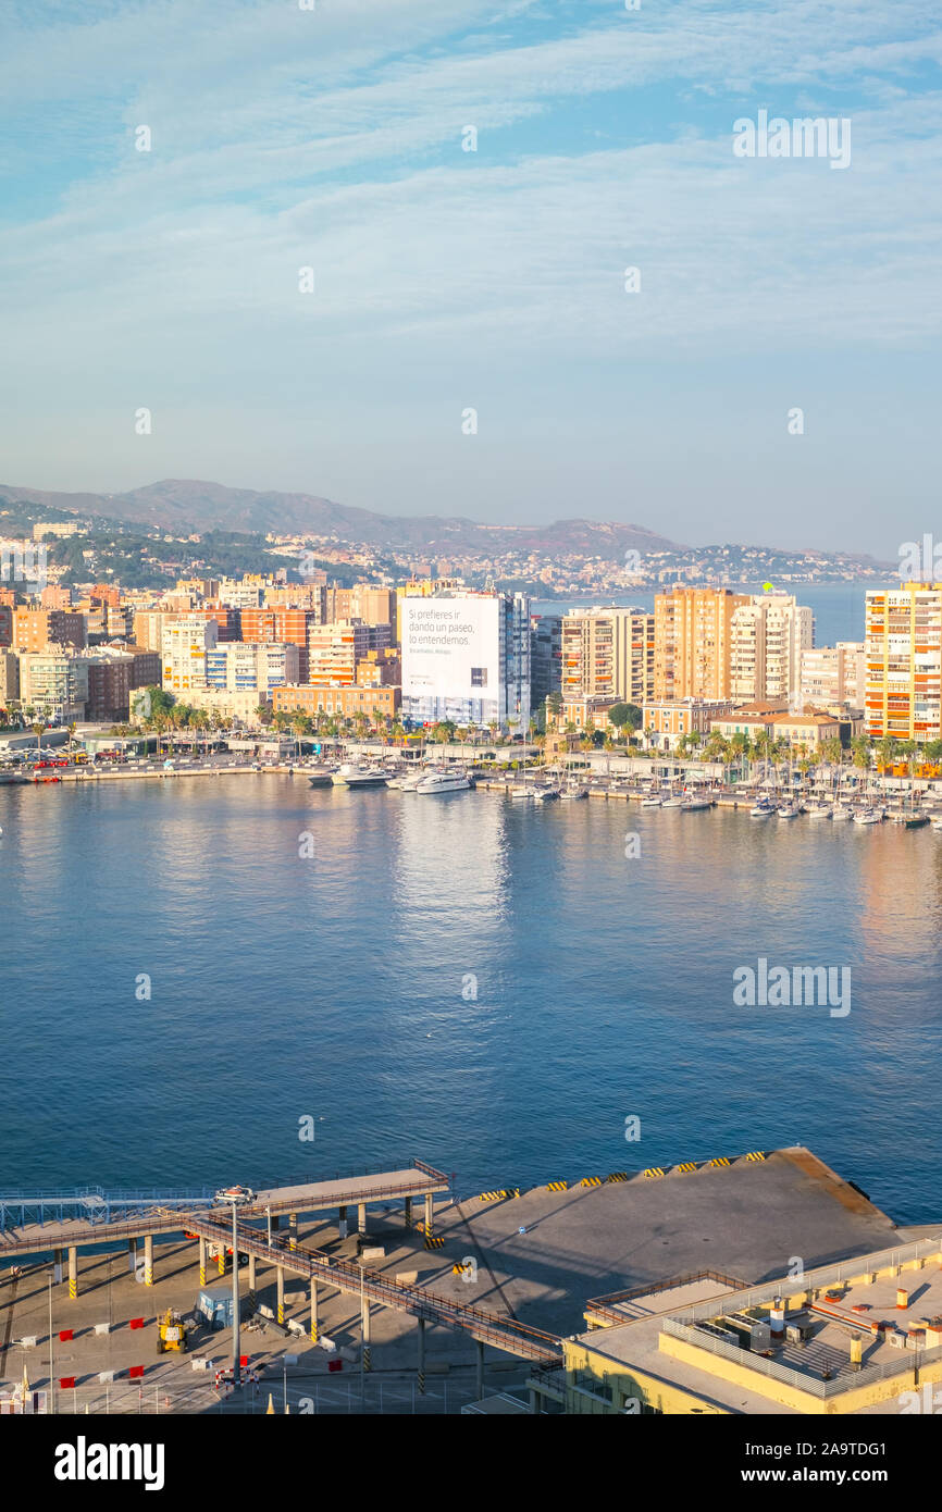
[[310,3],[8,0],[5,482],[942,534],[942,12]]

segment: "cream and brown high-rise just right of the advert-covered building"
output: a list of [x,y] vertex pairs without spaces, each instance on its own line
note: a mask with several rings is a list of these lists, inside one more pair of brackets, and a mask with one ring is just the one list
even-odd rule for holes
[[647,609],[570,609],[562,620],[562,696],[640,709],[653,692],[655,617]]

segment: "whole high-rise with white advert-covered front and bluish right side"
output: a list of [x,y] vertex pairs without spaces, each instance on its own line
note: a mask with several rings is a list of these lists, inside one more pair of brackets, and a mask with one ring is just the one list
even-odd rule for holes
[[423,724],[454,720],[526,733],[529,599],[443,590],[399,600],[402,712]]

